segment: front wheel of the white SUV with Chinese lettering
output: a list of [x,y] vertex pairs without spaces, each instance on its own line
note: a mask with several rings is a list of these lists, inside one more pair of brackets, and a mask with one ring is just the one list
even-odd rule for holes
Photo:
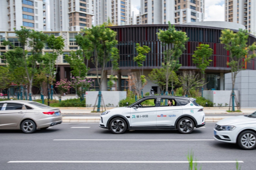
[[114,118],[109,124],[109,129],[114,134],[122,134],[126,131],[126,122],[123,118]]

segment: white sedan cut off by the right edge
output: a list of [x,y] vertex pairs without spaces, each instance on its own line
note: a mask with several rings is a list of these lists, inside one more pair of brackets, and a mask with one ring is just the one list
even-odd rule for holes
[[237,143],[244,150],[256,147],[256,112],[218,121],[214,127],[214,139]]

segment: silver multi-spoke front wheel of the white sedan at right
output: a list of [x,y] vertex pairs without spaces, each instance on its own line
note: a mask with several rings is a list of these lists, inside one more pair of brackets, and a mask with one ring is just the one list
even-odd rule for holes
[[256,133],[246,130],[239,134],[237,144],[244,150],[252,150],[256,147]]

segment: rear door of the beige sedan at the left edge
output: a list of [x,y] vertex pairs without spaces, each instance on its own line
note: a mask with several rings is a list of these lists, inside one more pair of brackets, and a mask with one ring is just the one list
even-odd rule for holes
[[5,109],[0,111],[0,127],[15,128],[25,115],[26,109],[20,103],[6,103]]

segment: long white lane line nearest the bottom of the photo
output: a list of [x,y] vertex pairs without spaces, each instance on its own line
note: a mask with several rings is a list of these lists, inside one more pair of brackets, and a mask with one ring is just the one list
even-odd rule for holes
[[[193,161],[193,163],[244,163],[244,161]],[[8,163],[189,163],[189,161],[9,161]]]

